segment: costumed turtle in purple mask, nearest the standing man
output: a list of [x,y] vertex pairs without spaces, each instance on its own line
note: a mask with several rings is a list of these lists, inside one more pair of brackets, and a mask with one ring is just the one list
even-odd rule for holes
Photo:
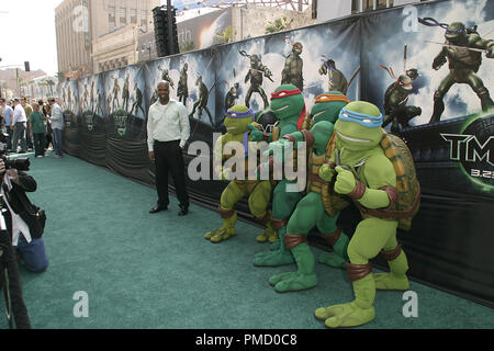
[[[235,105],[226,113],[223,122],[227,133],[218,137],[215,143],[215,158],[222,161],[228,160],[233,155],[224,152],[225,145],[229,141],[237,141],[244,145],[245,152],[245,180],[234,179],[223,191],[220,202],[218,212],[223,219],[223,225],[214,230],[207,231],[204,237],[211,242],[220,242],[236,235],[235,224],[237,222],[237,213],[235,204],[243,197],[248,196],[250,213],[256,217],[257,222],[266,226],[266,230],[259,236],[266,241],[276,241],[278,236],[271,225],[271,213],[268,211],[271,197],[271,182],[269,180],[256,180],[255,169],[249,169],[247,161],[248,152],[257,152],[256,148],[251,148],[254,143],[248,143],[249,128],[248,125],[255,121],[252,110],[244,105]],[[231,180],[232,173],[236,171],[235,165],[233,169],[224,168],[223,165],[216,167],[214,171],[223,180]],[[257,162],[256,162],[257,168]],[[254,177],[249,177],[252,176]],[[254,179],[252,179],[254,178]]]

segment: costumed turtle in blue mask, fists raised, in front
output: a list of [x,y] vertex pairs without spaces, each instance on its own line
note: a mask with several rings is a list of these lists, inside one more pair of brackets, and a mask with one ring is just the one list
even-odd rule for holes
[[[420,190],[412,155],[402,139],[382,129],[378,106],[355,101],[346,105],[335,125],[336,150],[319,177],[335,179],[336,193],[360,210],[362,220],[348,246],[351,303],[315,310],[330,328],[353,327],[375,316],[375,290],[407,290],[408,263],[396,241],[396,229],[409,229],[418,211]],[[370,259],[381,253],[389,273],[372,274]]]

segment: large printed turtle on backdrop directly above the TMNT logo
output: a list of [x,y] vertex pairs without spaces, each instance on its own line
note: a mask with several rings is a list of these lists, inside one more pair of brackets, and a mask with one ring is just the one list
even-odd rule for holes
[[[461,22],[453,22],[446,29],[446,44],[435,57],[433,68],[438,70],[449,60],[449,73],[442,79],[434,93],[434,113],[430,122],[439,122],[445,111],[442,101],[449,89],[456,83],[469,84],[481,101],[482,111],[494,106],[494,102],[476,75],[482,64],[482,53],[472,49],[483,49],[485,56],[494,57],[494,41],[482,38],[475,29],[467,29]],[[471,49],[472,48],[472,49]]]

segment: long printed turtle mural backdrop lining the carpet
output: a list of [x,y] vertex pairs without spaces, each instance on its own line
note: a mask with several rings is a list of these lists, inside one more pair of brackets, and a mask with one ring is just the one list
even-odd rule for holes
[[[469,44],[446,43],[448,25],[448,33],[461,30],[456,22],[464,25]],[[422,204],[412,230],[398,233],[411,278],[494,306],[487,218],[494,213],[494,59],[486,57],[493,39],[493,1],[437,1],[128,66],[59,84],[64,146],[153,184],[146,118],[160,80],[187,106],[188,143],[210,147],[229,106],[248,104],[259,115],[282,82],[303,90],[307,111],[318,94],[344,91],[377,104],[385,128],[414,156]],[[186,161],[193,157],[186,154]],[[215,208],[226,182],[188,185],[192,199]],[[238,211],[250,218],[246,202]],[[355,210],[341,214],[345,233],[358,218]],[[322,245],[316,234],[311,239]],[[385,267],[379,258],[375,264]]]

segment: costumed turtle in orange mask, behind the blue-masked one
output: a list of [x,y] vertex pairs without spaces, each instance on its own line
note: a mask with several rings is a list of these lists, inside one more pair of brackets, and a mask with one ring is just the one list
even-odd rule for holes
[[[334,123],[337,121],[340,110],[348,103],[347,97],[337,91],[318,95],[311,115],[303,125],[312,126],[311,131],[302,129],[283,136],[278,141],[282,147],[287,141],[296,146],[299,141],[305,141],[310,149],[307,166],[306,195],[296,204],[296,208],[287,226],[283,236],[284,245],[281,250],[268,252],[256,257],[262,265],[279,265],[280,263],[297,264],[296,272],[276,274],[269,282],[277,292],[290,292],[306,290],[317,284],[314,273],[315,259],[307,244],[307,235],[312,228],[317,227],[326,241],[333,246],[334,253],[319,258],[319,261],[332,267],[345,267],[348,237],[336,225],[339,211],[349,202],[340,199],[330,186],[330,183],[318,177],[322,165],[329,160],[334,145],[330,141],[334,132]],[[335,201],[335,199],[337,201]],[[291,260],[290,260],[291,259]],[[256,261],[255,261],[256,264]]]

